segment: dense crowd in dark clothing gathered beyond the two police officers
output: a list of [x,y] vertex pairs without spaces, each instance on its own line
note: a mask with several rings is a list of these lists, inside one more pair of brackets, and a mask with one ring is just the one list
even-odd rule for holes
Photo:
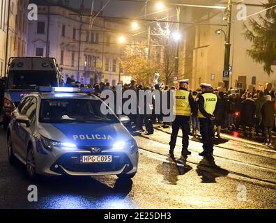
[[[80,87],[88,87],[91,85],[79,84]],[[110,90],[116,94],[116,86],[111,86],[109,83],[101,82],[94,84],[95,95],[101,97],[103,90]],[[137,91],[150,90],[160,91],[160,93],[169,90],[175,90],[175,86],[160,86],[156,84],[153,87],[137,85],[135,80],[130,84],[123,84],[123,91],[132,90]],[[214,134],[220,138],[221,130],[234,131],[243,130],[245,137],[252,137],[253,133],[256,137],[260,134],[263,136],[263,144],[271,145],[272,132],[275,129],[275,111],[276,111],[276,92],[269,91],[248,91],[248,90],[235,90],[229,89],[228,91],[220,91],[220,89],[210,89],[211,92],[217,95],[217,116],[215,117]],[[191,91],[193,100],[196,102],[201,94],[200,89]],[[105,98],[102,98],[105,100]],[[128,99],[125,99],[128,100]],[[123,100],[123,102],[125,101]],[[169,97],[168,97],[169,100]],[[162,103],[162,100],[160,100]],[[169,102],[168,102],[169,104]],[[131,132],[145,132],[146,134],[153,134],[153,123],[162,123],[162,128],[169,128],[171,123],[162,122],[162,114],[155,115],[154,107],[155,98],[153,98],[152,105],[153,114],[129,114],[131,124],[128,128]],[[190,130],[194,137],[200,137],[200,125],[198,118],[197,103],[194,104],[195,108],[192,109],[190,115]],[[146,107],[145,106],[145,107]],[[139,109],[137,105],[137,110]],[[146,112],[145,112],[146,113]],[[144,130],[143,126],[146,126]],[[241,128],[241,129],[240,129]],[[253,132],[254,130],[254,132]]]

